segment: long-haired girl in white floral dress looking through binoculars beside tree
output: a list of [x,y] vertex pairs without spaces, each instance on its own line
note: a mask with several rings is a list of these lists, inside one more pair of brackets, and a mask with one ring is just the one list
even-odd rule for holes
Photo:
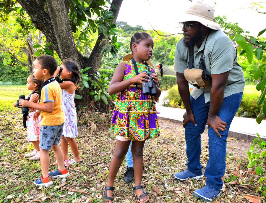
[[[62,69],[60,71],[60,69]],[[59,85],[61,87],[61,99],[62,99],[62,109],[64,112],[65,122],[64,130],[61,137],[61,148],[64,154],[65,166],[82,162],[80,158],[79,149],[74,138],[78,136],[77,132],[77,111],[74,103],[75,89],[80,82],[79,67],[76,62],[72,60],[64,60],[61,67],[58,67],[54,73],[56,77],[60,73],[60,78],[63,80]],[[69,160],[68,158],[68,144],[73,153],[73,158]],[[53,165],[57,165],[55,161]]]

